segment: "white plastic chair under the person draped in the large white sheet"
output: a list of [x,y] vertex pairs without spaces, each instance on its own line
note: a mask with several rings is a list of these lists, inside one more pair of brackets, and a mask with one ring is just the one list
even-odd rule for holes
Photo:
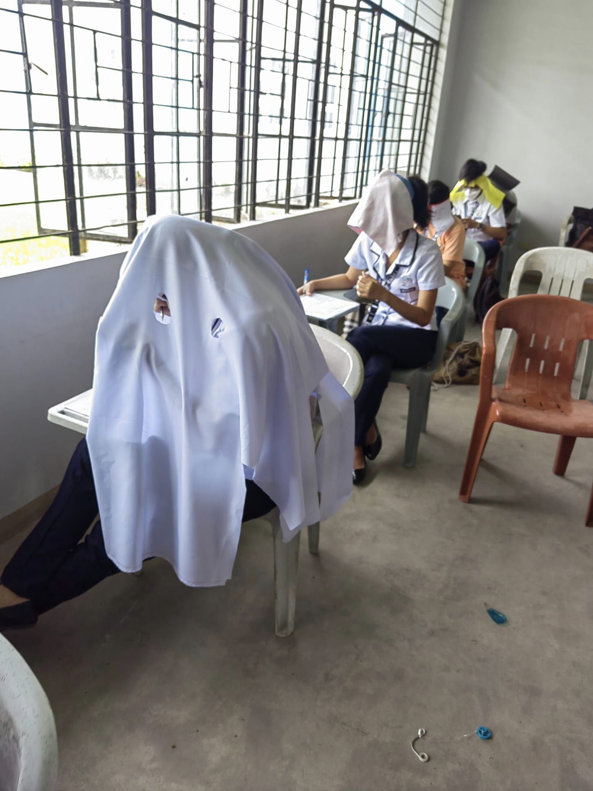
[[[339,335],[323,327],[311,325],[313,334],[321,346],[323,356],[334,377],[353,398],[362,387],[364,367],[360,354]],[[315,448],[319,445],[322,429],[314,426]],[[296,579],[299,567],[300,532],[289,542],[282,539],[280,512],[277,508],[263,517],[272,528],[274,539],[274,609],[276,634],[280,638],[293,634],[296,609]],[[309,551],[319,554],[319,522],[308,526]]]

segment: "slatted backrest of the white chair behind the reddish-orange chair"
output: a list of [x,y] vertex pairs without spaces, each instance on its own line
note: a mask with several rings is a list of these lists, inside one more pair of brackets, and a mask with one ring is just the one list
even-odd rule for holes
[[508,296],[516,297],[523,274],[540,272],[538,294],[580,300],[586,280],[593,280],[593,252],[576,248],[536,248],[523,253],[512,273]]

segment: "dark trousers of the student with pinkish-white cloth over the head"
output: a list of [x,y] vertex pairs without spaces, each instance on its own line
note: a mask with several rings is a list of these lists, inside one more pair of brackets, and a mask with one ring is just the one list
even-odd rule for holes
[[434,354],[438,332],[398,327],[397,324],[362,324],[348,335],[364,363],[364,381],[354,402],[354,445],[367,444],[383,393],[394,368],[421,368]]

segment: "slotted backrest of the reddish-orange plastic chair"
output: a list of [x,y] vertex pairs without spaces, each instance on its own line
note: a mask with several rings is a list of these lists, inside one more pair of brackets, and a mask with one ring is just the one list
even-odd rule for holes
[[593,338],[593,305],[551,294],[503,300],[485,317],[484,346],[493,348],[495,332],[504,327],[517,334],[504,388],[571,399],[577,346]]

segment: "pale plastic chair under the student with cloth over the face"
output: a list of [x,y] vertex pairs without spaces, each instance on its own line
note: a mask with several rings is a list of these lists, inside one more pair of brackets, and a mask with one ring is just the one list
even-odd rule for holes
[[436,340],[436,349],[425,368],[395,369],[391,373],[391,382],[407,384],[410,387],[408,401],[408,422],[406,426],[406,446],[403,452],[403,466],[414,467],[420,433],[426,431],[426,420],[429,415],[430,390],[432,376],[440,368],[443,361],[444,350],[451,340],[452,331],[465,305],[465,295],[457,283],[451,278],[441,286],[436,296],[436,305],[448,308],[443,320],[440,322],[439,337]]

